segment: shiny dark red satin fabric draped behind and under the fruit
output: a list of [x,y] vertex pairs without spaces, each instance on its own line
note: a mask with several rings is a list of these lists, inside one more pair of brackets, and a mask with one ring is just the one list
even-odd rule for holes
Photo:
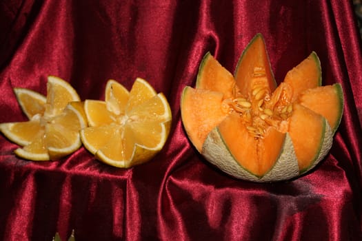
[[[362,240],[362,55],[352,1],[34,1],[0,3],[0,122],[26,121],[13,87],[46,94],[46,76],[81,98],[145,78],[172,109],[163,150],[131,169],[83,147],[21,160],[0,136],[0,240]],[[180,93],[210,51],[230,72],[254,34],[277,81],[313,50],[345,110],[330,154],[296,180],[257,184],[208,164],[190,145]]]

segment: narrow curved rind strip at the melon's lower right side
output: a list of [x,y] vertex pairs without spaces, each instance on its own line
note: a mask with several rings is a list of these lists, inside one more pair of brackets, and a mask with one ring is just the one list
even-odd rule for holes
[[310,163],[310,165],[307,168],[301,170],[300,173],[305,174],[306,172],[313,169],[316,165],[318,165],[318,163],[320,163],[321,160],[323,160],[323,158],[327,156],[328,151],[330,151],[332,147],[332,143],[333,143],[332,129],[328,124],[327,119],[323,117],[323,132],[322,132],[321,143],[319,145],[319,151],[317,152],[316,157],[314,158],[312,163]]

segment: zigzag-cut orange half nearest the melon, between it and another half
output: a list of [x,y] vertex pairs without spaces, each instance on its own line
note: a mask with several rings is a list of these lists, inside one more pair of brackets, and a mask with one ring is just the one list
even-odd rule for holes
[[114,80],[105,86],[105,101],[86,100],[89,127],[81,140],[97,159],[114,167],[132,167],[150,160],[165,145],[172,114],[162,93],[142,78],[130,92]]

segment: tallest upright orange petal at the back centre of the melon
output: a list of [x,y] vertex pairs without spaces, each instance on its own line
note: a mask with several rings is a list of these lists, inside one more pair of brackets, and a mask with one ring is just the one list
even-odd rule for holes
[[254,36],[243,51],[237,63],[234,78],[243,96],[250,95],[256,84],[263,85],[269,92],[275,90],[276,82],[261,34]]

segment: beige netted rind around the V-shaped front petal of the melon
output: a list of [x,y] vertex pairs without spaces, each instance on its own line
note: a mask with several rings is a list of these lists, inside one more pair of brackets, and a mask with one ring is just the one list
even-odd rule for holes
[[249,180],[252,182],[274,182],[279,180],[288,180],[299,175],[298,163],[296,160],[292,139],[286,134],[283,147],[279,158],[262,177],[255,176],[250,171],[244,169],[232,156],[228,147],[215,127],[203,143],[201,154],[213,165],[219,167],[222,171],[235,178]]

